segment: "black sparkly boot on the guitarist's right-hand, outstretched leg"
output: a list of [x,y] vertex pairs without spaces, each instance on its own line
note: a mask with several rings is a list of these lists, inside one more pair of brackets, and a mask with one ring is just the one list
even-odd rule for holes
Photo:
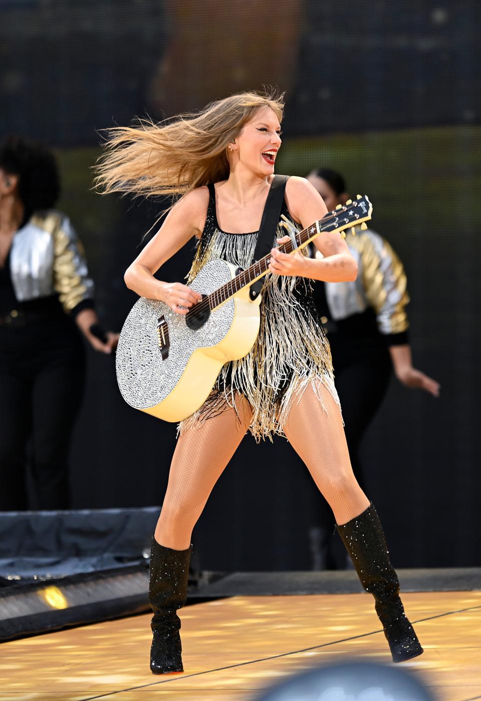
[[347,524],[336,526],[356,568],[361,584],[376,600],[375,608],[391,648],[393,662],[423,652],[399,598],[399,580],[389,562],[381,522],[371,504]]

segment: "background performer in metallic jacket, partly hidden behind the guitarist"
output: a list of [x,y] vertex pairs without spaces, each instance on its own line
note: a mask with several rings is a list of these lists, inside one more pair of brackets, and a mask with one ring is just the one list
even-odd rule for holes
[[[313,170],[307,180],[328,210],[349,200],[344,178],[335,170]],[[392,372],[405,387],[425,390],[434,397],[439,396],[440,385],[412,365],[406,312],[410,299],[402,262],[376,231],[363,231],[359,226],[355,231],[355,236],[347,233],[345,242],[358,264],[356,280],[336,285],[327,280],[316,282],[314,301],[333,357],[351,465],[358,484],[365,489],[359,449],[384,400]],[[319,252],[316,257],[320,257]],[[332,512],[319,501],[315,513],[324,564],[326,569],[337,569]],[[343,569],[345,563],[340,565]]]

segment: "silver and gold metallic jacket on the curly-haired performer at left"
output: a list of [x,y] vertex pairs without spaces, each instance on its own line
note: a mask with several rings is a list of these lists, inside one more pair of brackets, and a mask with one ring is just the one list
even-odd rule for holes
[[15,233],[10,266],[19,302],[57,293],[69,313],[81,301],[93,298],[83,247],[62,212],[36,213]]

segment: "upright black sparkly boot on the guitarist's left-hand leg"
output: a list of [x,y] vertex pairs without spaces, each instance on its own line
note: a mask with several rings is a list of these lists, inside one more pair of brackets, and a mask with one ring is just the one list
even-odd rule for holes
[[148,601],[153,610],[151,671],[154,674],[183,672],[181,620],[176,611],[186,604],[191,552],[192,545],[186,550],[171,550],[152,538]]

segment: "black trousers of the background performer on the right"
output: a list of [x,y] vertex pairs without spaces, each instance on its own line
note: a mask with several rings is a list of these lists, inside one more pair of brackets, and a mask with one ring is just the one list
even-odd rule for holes
[[[382,404],[392,374],[388,348],[377,339],[328,334],[333,355],[335,386],[339,395],[344,432],[354,475],[365,489],[365,468],[359,449],[365,432]],[[344,569],[346,553],[335,534],[335,519],[318,490],[312,494],[312,550],[321,569]]]

